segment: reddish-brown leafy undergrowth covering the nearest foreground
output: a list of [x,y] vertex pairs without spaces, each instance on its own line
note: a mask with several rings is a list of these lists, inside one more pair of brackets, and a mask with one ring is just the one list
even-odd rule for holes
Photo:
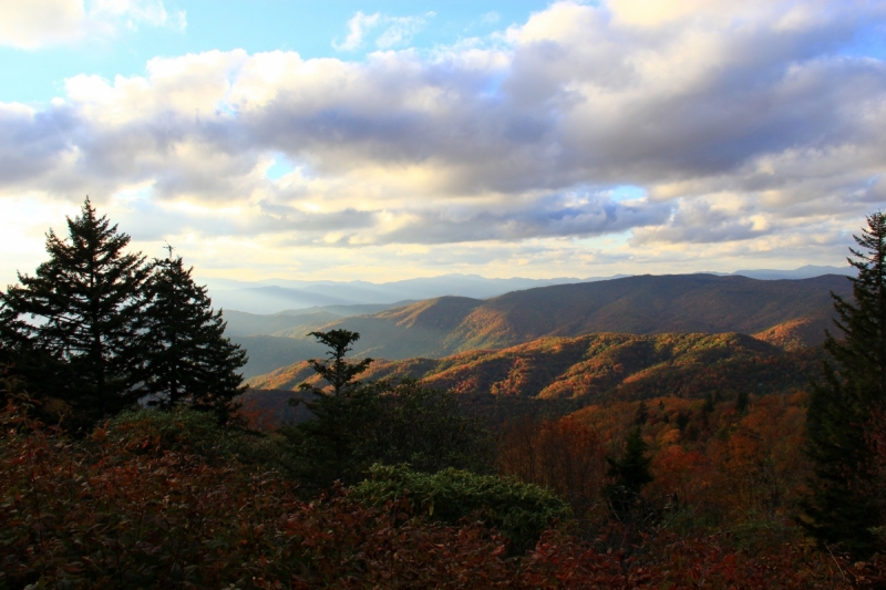
[[886,584],[878,561],[797,544],[751,556],[715,537],[659,534],[625,546],[617,528],[585,542],[563,525],[508,557],[507,541],[481,522],[432,522],[398,510],[396,498],[364,507],[346,490],[302,501],[275,473],[207,460],[132,423],[71,442],[10,403],[0,426],[3,589]]

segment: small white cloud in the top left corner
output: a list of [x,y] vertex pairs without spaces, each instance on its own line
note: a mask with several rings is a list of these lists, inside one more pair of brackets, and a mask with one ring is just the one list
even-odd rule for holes
[[0,4],[0,45],[35,50],[86,37],[113,37],[140,24],[184,30],[185,11],[169,13],[162,0],[30,0]]

